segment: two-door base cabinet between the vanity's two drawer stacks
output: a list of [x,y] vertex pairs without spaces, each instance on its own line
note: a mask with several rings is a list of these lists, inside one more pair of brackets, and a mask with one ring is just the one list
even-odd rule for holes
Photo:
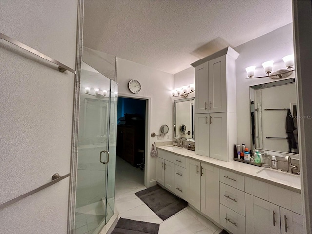
[[186,201],[220,223],[218,167],[186,159]]

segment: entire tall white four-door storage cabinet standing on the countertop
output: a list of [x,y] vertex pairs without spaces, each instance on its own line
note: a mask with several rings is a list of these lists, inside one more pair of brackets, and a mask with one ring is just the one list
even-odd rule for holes
[[[233,160],[237,142],[236,69],[238,53],[227,47],[195,67],[195,153]],[[207,126],[208,125],[208,126]]]

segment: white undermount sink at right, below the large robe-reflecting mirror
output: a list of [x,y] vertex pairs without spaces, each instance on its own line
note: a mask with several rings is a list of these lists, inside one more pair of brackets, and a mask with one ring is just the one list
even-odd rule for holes
[[300,186],[300,176],[299,175],[294,175],[290,174],[287,172],[282,172],[282,171],[276,171],[272,169],[261,169],[260,171],[257,172],[258,175],[261,175],[267,179],[278,179],[282,180],[287,183],[292,183]]

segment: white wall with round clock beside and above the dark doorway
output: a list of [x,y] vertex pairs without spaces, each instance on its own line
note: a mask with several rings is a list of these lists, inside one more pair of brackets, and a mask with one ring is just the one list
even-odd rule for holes
[[[131,79],[137,79],[142,86],[139,94],[133,94],[128,89]],[[147,131],[148,148],[146,163],[147,186],[156,183],[156,158],[150,156],[152,143],[172,140],[173,136],[173,89],[174,76],[172,74],[156,70],[125,59],[117,59],[117,82],[118,96],[130,98],[150,98],[150,121]],[[151,137],[151,133],[160,134],[160,127],[163,124],[169,126],[169,132],[163,140]],[[169,139],[167,139],[169,136]],[[150,184],[151,183],[151,184]]]

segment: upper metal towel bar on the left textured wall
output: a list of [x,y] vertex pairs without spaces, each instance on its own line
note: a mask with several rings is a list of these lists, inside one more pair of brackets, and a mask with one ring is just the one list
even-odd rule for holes
[[48,60],[48,61],[58,65],[60,72],[65,72],[66,70],[68,70],[68,71],[76,74],[76,71],[74,69],[64,65],[63,63],[61,63],[61,62],[59,62],[59,61],[57,61],[55,59],[50,58],[49,56],[46,56],[46,55],[42,54],[41,52],[39,52],[39,51],[29,47],[28,45],[25,45],[25,44],[21,43],[18,40],[10,38],[9,36],[6,36],[3,33],[0,33],[0,38],[3,39],[3,40],[6,40],[6,41],[8,41],[8,42],[10,42],[10,43],[12,43],[12,44],[14,44],[16,46],[19,46],[20,48],[22,48],[22,49],[24,49],[24,50],[26,50],[26,51],[28,51],[30,53],[33,53],[34,55],[37,55],[37,56],[39,56],[42,59]]

